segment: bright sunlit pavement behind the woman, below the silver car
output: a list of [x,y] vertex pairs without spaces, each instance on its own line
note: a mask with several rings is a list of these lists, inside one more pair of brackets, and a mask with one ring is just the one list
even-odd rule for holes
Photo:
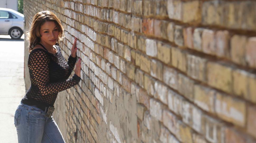
[[14,113],[25,92],[24,34],[0,35],[0,143],[18,142]]

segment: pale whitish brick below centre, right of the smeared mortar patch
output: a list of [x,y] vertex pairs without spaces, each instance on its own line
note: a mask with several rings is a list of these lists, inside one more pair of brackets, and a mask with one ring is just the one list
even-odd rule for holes
[[162,121],[162,105],[160,102],[156,101],[155,99],[151,98],[150,100],[150,115],[155,117],[155,119]]

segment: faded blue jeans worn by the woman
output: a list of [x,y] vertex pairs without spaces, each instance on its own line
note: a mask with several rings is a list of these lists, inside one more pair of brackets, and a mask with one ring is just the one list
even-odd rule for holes
[[59,127],[45,111],[20,103],[14,114],[19,143],[63,143]]

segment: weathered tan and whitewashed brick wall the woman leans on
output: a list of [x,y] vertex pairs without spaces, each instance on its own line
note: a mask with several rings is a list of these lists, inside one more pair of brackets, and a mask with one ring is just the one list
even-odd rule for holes
[[66,59],[78,37],[82,80],[55,103],[65,140],[255,142],[255,7],[253,0],[24,0],[26,29],[39,11],[60,18]]

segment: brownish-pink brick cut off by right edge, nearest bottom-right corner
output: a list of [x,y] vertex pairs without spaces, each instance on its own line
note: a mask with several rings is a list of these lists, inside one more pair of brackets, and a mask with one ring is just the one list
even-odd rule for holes
[[247,132],[256,137],[256,106],[248,106],[247,112]]

